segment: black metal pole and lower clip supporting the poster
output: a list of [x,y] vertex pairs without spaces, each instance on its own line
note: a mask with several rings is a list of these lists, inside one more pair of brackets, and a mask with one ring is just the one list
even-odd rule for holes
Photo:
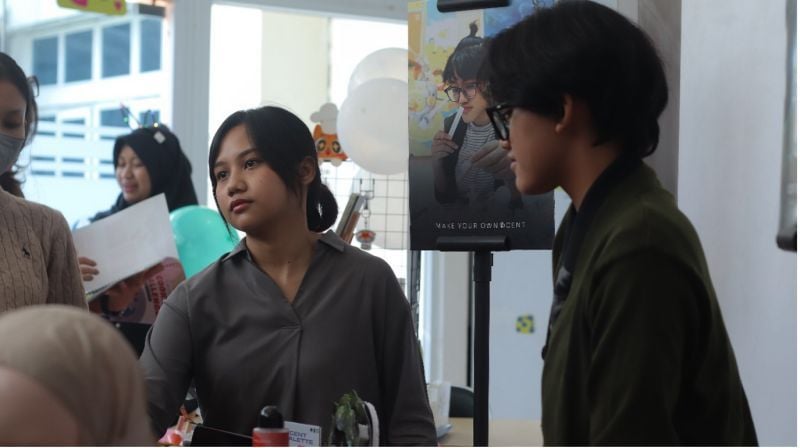
[[489,297],[492,282],[492,252],[507,251],[508,237],[439,237],[441,251],[474,252],[475,342],[472,346],[475,370],[475,402],[472,420],[473,446],[489,446]]

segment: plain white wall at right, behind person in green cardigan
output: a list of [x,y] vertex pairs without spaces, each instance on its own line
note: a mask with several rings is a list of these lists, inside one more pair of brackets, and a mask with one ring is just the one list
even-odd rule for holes
[[678,203],[696,226],[759,441],[796,443],[794,253],[775,233],[783,1],[684,1]]

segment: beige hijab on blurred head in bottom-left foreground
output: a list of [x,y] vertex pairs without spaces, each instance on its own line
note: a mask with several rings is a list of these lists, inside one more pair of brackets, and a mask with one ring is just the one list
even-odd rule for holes
[[144,376],[129,344],[102,318],[65,305],[0,314],[0,366],[58,398],[81,445],[154,445]]

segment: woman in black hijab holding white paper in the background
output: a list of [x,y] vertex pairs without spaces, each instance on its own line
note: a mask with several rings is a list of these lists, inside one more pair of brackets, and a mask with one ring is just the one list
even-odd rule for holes
[[[181,149],[178,137],[166,126],[139,128],[114,142],[114,171],[122,192],[110,209],[97,213],[97,221],[124,210],[133,204],[164,193],[169,211],[196,205],[192,185],[192,166]],[[79,257],[83,280],[89,281],[102,267],[87,257]],[[160,266],[128,278],[106,292],[100,299],[103,311],[122,311],[141,290],[145,280]]]

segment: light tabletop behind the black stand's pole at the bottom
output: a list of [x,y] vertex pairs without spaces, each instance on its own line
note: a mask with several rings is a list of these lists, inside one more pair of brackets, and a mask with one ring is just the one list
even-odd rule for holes
[[[440,446],[472,446],[472,419],[451,418],[453,428],[439,440]],[[492,446],[542,446],[542,428],[537,420],[489,420]]]

